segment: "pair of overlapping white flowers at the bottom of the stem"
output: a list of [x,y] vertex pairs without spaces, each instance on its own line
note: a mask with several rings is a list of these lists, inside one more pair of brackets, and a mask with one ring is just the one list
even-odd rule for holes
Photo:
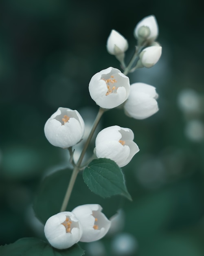
[[75,243],[101,239],[110,228],[110,220],[101,212],[99,204],[84,204],[71,212],[51,216],[45,224],[45,236],[53,247],[67,249]]

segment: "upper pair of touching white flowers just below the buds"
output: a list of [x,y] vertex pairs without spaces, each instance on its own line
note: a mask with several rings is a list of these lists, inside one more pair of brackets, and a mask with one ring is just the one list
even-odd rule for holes
[[158,111],[158,94],[153,86],[145,83],[134,83],[130,86],[128,77],[113,67],[92,77],[89,92],[101,108],[115,108],[125,102],[125,113],[136,119],[150,117]]

